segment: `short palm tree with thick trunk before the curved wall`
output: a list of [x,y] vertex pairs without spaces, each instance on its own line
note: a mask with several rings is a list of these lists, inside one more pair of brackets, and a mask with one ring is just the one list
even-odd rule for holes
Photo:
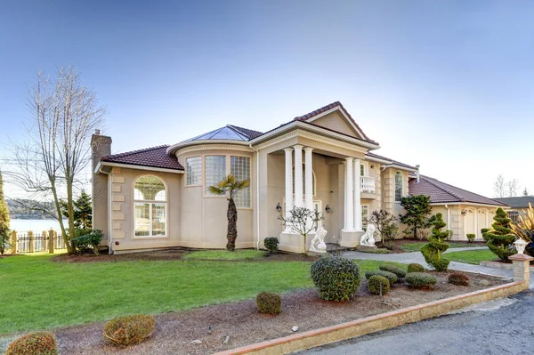
[[238,210],[233,197],[237,191],[245,190],[249,185],[250,182],[248,179],[239,181],[234,175],[229,174],[218,184],[209,187],[210,193],[214,195],[225,195],[228,200],[228,210],[226,211],[226,218],[228,218],[226,238],[228,239],[228,243],[226,244],[226,249],[230,251],[236,248],[236,238],[238,238]]

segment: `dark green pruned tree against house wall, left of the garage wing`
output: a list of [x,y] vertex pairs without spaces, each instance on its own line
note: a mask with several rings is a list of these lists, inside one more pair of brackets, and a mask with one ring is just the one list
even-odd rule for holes
[[408,226],[404,233],[407,237],[417,239],[419,230],[425,230],[432,225],[428,218],[432,211],[430,196],[410,195],[401,198],[401,206],[406,210],[406,214],[399,214],[399,219]]

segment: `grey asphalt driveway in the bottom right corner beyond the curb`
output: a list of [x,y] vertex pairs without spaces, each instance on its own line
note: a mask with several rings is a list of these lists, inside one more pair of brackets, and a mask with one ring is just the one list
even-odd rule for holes
[[480,303],[470,311],[395,327],[299,354],[456,355],[531,354],[534,294]]

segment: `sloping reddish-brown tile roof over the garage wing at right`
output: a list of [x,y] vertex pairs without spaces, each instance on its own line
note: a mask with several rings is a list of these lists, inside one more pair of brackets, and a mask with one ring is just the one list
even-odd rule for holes
[[443,203],[474,203],[482,205],[506,206],[491,198],[485,198],[481,195],[475,194],[467,190],[457,188],[445,182],[440,182],[428,176],[421,175],[419,182],[417,179],[409,181],[410,195],[426,195],[430,196],[430,201],[433,204]]

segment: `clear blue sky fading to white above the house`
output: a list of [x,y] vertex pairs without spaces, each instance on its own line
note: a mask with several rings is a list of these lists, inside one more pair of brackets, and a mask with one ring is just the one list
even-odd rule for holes
[[[0,154],[25,87],[72,64],[122,152],[225,124],[267,131],[333,101],[377,154],[493,195],[534,193],[530,1],[2,1]],[[6,194],[9,195],[9,186]]]

